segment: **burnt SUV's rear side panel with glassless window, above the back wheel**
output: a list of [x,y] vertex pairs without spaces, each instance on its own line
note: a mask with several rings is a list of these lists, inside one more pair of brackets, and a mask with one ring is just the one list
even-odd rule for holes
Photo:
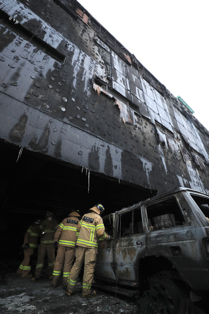
[[166,257],[179,273],[189,278],[188,282],[192,282],[200,268],[202,247],[188,215],[188,204],[184,204],[177,193],[144,204],[143,212],[147,254]]

